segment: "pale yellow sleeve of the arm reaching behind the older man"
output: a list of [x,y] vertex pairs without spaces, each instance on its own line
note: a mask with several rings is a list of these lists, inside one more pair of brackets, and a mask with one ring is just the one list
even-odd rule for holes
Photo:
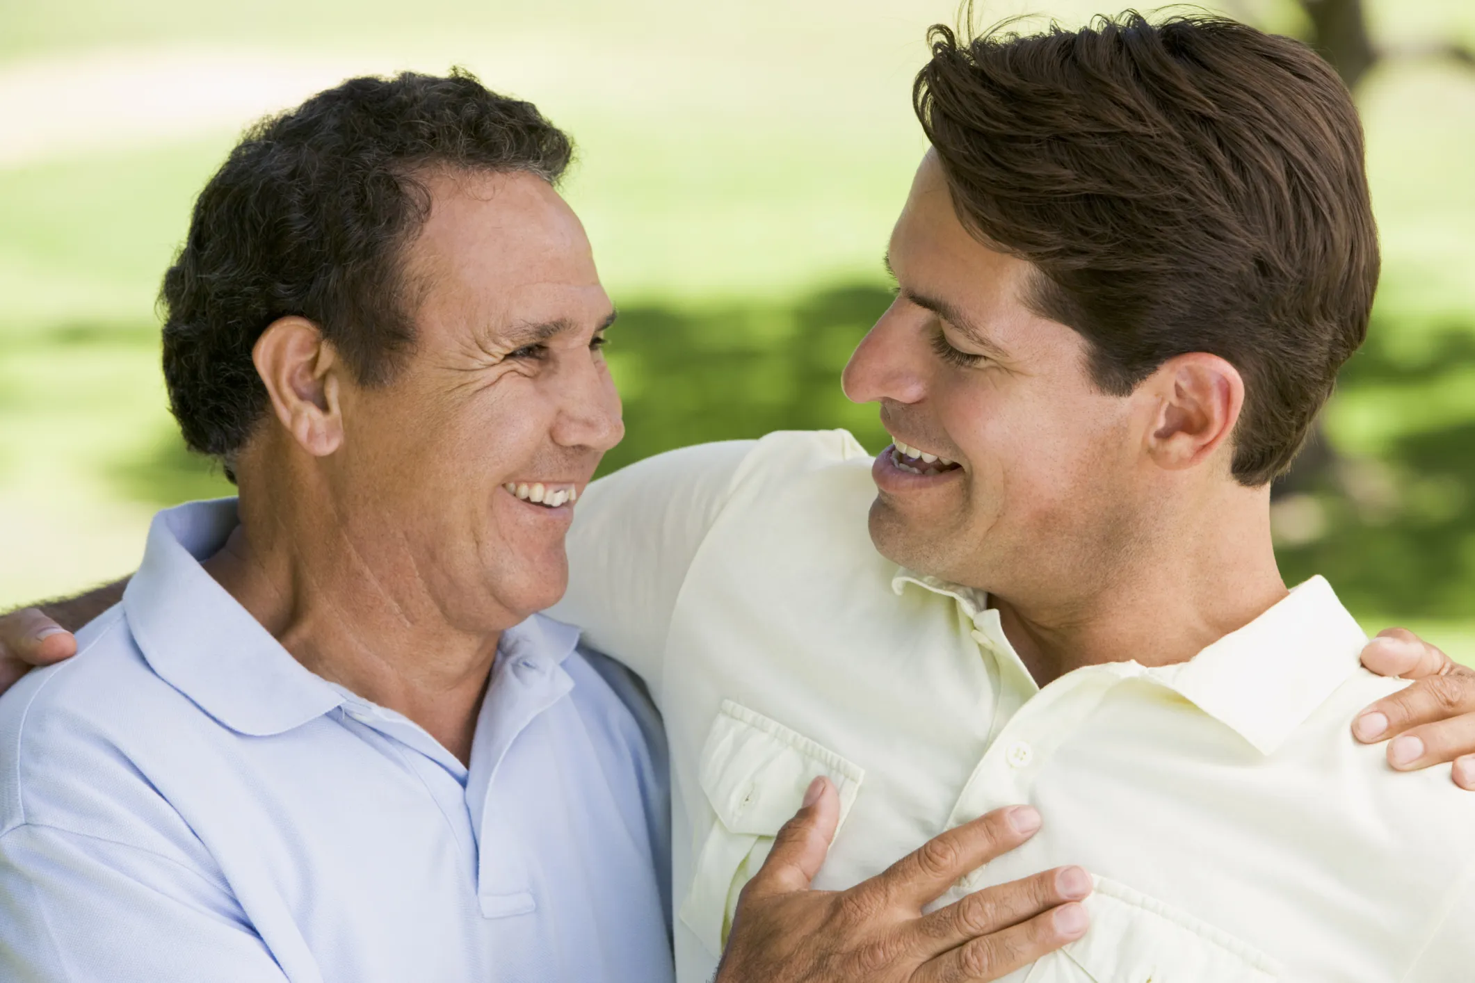
[[549,610],[633,669],[656,704],[667,629],[696,551],[757,441],[699,444],[593,482],[568,534],[568,592]]

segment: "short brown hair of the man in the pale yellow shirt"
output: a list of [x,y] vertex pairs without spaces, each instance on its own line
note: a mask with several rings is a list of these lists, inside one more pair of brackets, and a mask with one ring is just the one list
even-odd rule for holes
[[1311,49],[1214,16],[937,25],[913,102],[963,224],[1125,395],[1211,352],[1245,379],[1233,473],[1289,467],[1367,335],[1378,233],[1351,94]]

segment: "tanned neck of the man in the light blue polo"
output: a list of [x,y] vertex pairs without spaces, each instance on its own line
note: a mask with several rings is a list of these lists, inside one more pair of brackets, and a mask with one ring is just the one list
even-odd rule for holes
[[[291,480],[294,469],[282,470]],[[382,542],[358,535],[302,470],[291,494],[271,486],[288,482],[240,476],[240,525],[205,570],[307,669],[403,713],[469,763],[500,631],[457,628],[423,582],[386,575],[413,563],[369,559]],[[382,523],[370,526],[382,541]]]

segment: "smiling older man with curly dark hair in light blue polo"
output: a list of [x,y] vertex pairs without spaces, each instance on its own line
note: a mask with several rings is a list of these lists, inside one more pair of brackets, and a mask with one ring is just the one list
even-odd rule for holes
[[161,513],[86,654],[6,696],[0,976],[670,976],[662,765],[534,616],[622,433],[568,158],[406,77],[209,181],[164,363],[239,506]]

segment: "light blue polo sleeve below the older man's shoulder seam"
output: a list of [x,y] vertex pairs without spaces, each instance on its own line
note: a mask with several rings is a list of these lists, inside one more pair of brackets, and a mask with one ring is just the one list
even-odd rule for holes
[[286,979],[224,883],[149,850],[52,827],[0,836],[0,980]]

